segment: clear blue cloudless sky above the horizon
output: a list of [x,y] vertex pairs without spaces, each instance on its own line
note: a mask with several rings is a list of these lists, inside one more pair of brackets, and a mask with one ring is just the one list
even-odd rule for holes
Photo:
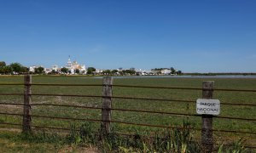
[[1,0],[0,61],[256,72],[255,0]]

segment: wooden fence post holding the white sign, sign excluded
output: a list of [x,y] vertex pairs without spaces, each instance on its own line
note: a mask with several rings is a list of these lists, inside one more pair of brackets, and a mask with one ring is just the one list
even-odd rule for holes
[[[202,99],[213,98],[213,81],[202,82]],[[212,115],[202,115],[201,144],[206,152],[212,152]]]

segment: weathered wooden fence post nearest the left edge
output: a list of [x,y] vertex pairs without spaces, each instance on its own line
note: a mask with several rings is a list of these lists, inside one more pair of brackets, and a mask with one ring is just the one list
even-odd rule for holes
[[24,107],[23,107],[23,124],[22,124],[22,133],[31,133],[32,132],[32,120],[31,120],[31,83],[32,76],[24,76]]

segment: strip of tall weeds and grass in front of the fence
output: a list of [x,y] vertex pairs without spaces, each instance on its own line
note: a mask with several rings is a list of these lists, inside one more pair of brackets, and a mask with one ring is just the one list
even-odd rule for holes
[[[190,126],[183,120],[183,127]],[[145,133],[122,136],[95,132],[90,122],[69,133],[0,133],[1,152],[205,152],[189,129],[160,130],[150,137]],[[244,147],[244,140],[214,145],[214,152],[253,152]]]

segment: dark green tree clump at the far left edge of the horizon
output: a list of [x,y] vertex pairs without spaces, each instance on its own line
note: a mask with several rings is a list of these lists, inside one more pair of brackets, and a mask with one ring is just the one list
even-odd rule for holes
[[0,74],[13,75],[13,74],[26,74],[29,69],[20,63],[11,63],[6,65],[4,61],[0,61]]

